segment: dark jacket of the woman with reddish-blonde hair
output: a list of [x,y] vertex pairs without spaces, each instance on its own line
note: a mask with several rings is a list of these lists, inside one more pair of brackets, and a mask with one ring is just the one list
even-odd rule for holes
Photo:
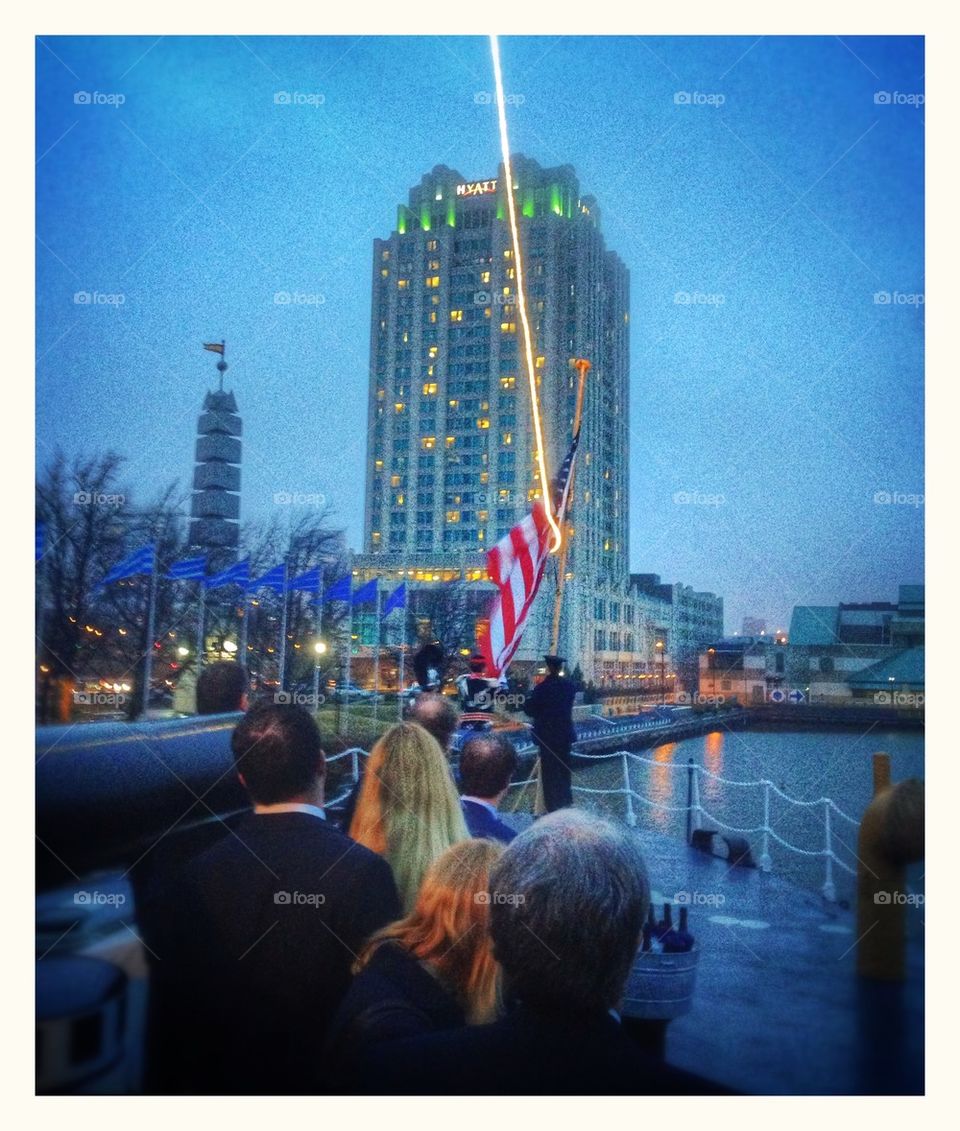
[[355,1094],[358,1057],[383,1041],[423,1036],[465,1024],[440,982],[396,942],[381,943],[356,975],[327,1038],[329,1089]]

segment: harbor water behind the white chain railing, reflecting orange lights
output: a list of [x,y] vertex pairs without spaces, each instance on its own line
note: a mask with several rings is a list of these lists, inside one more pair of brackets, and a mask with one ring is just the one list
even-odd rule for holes
[[[784,793],[802,801],[831,797],[845,813],[859,821],[873,795],[872,756],[877,751],[890,754],[893,782],[924,777],[924,735],[922,731],[712,731],[709,734],[666,742],[638,751],[656,765],[630,761],[632,789],[646,801],[634,798],[638,824],[668,836],[685,836],[687,759],[711,774],[732,782],[756,782],[767,778]],[[590,788],[617,788],[623,785],[619,760],[599,762],[578,774],[574,784]],[[727,824],[753,829],[763,823],[763,789],[745,788],[700,777],[700,803],[712,817]],[[625,813],[622,797],[597,797],[581,794],[579,803],[605,809],[619,818]],[[651,804],[656,803],[656,804]],[[676,806],[678,812],[657,808]],[[704,819],[704,827],[718,826]],[[790,805],[771,792],[770,827],[785,840],[807,851],[820,849],[825,843],[824,806]],[[856,869],[857,830],[848,821],[831,813],[833,851],[850,867]],[[754,858],[762,851],[762,834],[746,835]],[[789,852],[771,837],[770,857],[775,873],[813,890],[824,880],[822,857],[805,857]],[[834,866],[837,896],[849,900],[854,880]]]

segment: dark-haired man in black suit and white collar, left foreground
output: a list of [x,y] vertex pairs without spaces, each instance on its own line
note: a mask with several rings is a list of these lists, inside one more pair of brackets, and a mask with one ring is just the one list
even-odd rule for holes
[[254,708],[232,745],[253,812],[188,869],[158,942],[156,968],[179,990],[181,1088],[315,1091],[351,967],[400,903],[386,861],[326,821],[320,733],[302,707]]

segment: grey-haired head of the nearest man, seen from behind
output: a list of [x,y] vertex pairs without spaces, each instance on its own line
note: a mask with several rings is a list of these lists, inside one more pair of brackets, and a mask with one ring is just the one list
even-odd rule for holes
[[533,1007],[600,1012],[623,995],[650,903],[633,837],[565,809],[536,821],[490,877],[494,955]]

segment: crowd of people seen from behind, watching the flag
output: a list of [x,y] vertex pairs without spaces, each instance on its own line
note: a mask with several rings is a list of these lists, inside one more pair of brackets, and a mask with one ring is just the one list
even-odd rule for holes
[[[198,689],[222,693],[215,709],[242,708],[230,666]],[[537,710],[548,731],[548,700]],[[157,879],[141,920],[153,1090],[724,1090],[651,1055],[617,1013],[650,901],[635,837],[572,808],[518,834],[498,811],[516,751],[477,732],[455,776],[457,723],[449,699],[420,696],[338,828],[313,717],[243,715],[250,810]]]

